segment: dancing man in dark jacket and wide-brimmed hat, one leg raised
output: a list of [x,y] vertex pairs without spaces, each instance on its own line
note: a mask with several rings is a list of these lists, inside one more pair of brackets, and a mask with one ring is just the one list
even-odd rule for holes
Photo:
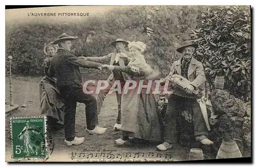
[[56,86],[59,88],[60,97],[65,103],[65,142],[68,146],[80,145],[84,141],[84,137],[75,137],[77,102],[86,104],[87,132],[89,134],[103,134],[106,131],[106,128],[96,126],[98,125],[96,99],[91,94],[83,92],[79,70],[79,66],[101,69],[102,64],[78,59],[70,53],[72,47],[71,41],[74,39],[77,39],[77,37],[63,33],[53,42],[53,44],[59,45],[59,49],[52,58],[48,71],[50,77],[56,77]]

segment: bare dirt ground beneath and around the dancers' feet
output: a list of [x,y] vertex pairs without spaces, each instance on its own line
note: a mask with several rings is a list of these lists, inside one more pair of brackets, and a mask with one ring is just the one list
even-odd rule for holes
[[[37,116],[40,115],[39,109],[39,80],[40,78],[16,78],[14,81],[14,103],[23,105],[24,103],[30,105],[26,108],[19,107],[17,111],[6,114],[6,160],[11,160],[11,137],[10,137],[10,118],[21,116]],[[6,93],[8,94],[8,80],[6,81]],[[27,88],[29,87],[29,91]],[[26,100],[25,100],[26,97]],[[33,102],[29,102],[33,100]],[[25,101],[25,102],[24,102]],[[130,146],[117,147],[114,140],[120,138],[121,132],[114,131],[113,126],[117,115],[117,101],[113,95],[108,95],[103,103],[101,113],[99,115],[99,125],[107,127],[108,130],[103,135],[89,135],[86,132],[86,113],[84,111],[84,104],[77,107],[76,113],[76,134],[77,136],[84,136],[86,139],[82,145],[67,147],[64,143],[64,131],[59,130],[52,133],[54,141],[54,150],[50,156],[50,161],[68,161],[68,154],[74,151],[104,151],[105,153],[115,152],[157,152],[156,146],[158,143],[136,143]],[[175,160],[187,160],[188,148],[181,146],[174,146],[167,152],[172,155]],[[164,158],[164,157],[162,157]]]

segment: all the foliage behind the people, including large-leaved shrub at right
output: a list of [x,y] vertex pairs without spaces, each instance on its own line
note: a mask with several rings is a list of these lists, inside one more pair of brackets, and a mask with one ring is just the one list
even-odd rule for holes
[[[86,42],[90,31],[95,34]],[[192,37],[196,52],[212,87],[216,75],[224,75],[225,88],[237,98],[249,100],[251,78],[250,8],[248,6],[133,6],[113,9],[75,23],[38,20],[6,23],[6,59],[13,56],[13,73],[42,75],[44,43],[66,32],[78,36],[72,52],[77,56],[103,56],[115,51],[117,37],[147,44],[146,61],[169,73],[180,58],[176,48]],[[189,36],[190,35],[190,36]]]

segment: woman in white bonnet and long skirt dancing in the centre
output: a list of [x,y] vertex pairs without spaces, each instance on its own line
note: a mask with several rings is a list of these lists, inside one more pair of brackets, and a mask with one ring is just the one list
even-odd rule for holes
[[[122,137],[115,140],[116,145],[124,145],[131,137],[162,141],[162,122],[161,115],[158,111],[155,96],[150,89],[137,92],[139,81],[144,80],[143,84],[148,83],[147,79],[153,79],[154,70],[148,65],[142,53],[146,49],[146,44],[140,41],[129,42],[131,58],[127,66],[105,65],[110,70],[122,71],[127,75],[125,81],[134,80],[137,82],[136,88],[127,93],[123,93],[121,101],[121,131]],[[127,83],[127,82],[126,82]]]

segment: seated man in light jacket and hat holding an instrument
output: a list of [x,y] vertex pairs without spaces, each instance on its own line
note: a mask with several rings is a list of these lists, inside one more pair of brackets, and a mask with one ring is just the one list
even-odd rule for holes
[[191,105],[193,111],[193,123],[194,123],[194,135],[196,140],[200,141],[203,145],[212,145],[213,142],[207,138],[208,136],[208,123],[205,121],[203,112],[201,111],[205,88],[205,75],[204,69],[201,62],[197,61],[193,54],[195,49],[198,47],[191,40],[184,41],[182,46],[177,49],[177,52],[182,53],[183,56],[179,60],[175,61],[170,69],[170,73],[167,77],[160,80],[160,83],[164,83],[166,80],[174,83],[173,78],[176,76],[184,77],[188,80],[189,84],[186,86],[185,91],[188,94],[193,93],[193,91],[198,91],[197,98],[185,98],[177,96],[176,94],[171,94],[168,98],[168,105],[166,109],[165,119],[166,125],[164,130],[164,142],[157,146],[159,151],[165,151],[173,147],[173,144],[177,140],[176,131],[176,117],[178,105],[183,102],[188,102]]

